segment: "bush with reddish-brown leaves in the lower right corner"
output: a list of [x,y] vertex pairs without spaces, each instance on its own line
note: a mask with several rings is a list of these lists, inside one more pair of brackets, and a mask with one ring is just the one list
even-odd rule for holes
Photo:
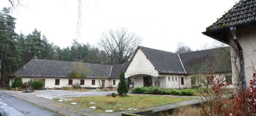
[[246,90],[240,88],[234,99],[227,99],[223,94],[220,94],[225,85],[223,78],[216,79],[213,76],[211,69],[207,73],[213,80],[211,89],[214,91],[214,98],[208,106],[203,106],[201,115],[215,116],[256,116],[256,74],[253,73],[253,79],[250,81],[249,87]]

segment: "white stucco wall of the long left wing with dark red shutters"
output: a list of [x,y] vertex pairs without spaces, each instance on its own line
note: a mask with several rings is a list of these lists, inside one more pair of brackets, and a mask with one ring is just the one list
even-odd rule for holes
[[[10,78],[9,84],[10,86],[12,85],[12,79],[14,81],[14,78]],[[72,87],[72,85],[68,85],[68,80],[72,79],[73,80],[73,84],[75,83],[80,83],[79,79],[76,78],[27,78],[27,77],[23,77],[22,78],[22,82],[28,82],[30,79],[34,80],[34,79],[45,79],[45,88],[49,87],[49,88],[61,88],[61,87]],[[60,85],[55,85],[55,79],[60,79]],[[92,85],[92,80],[95,80],[95,85]],[[113,85],[113,81],[112,80],[116,80],[116,85]],[[111,81],[109,79],[105,79],[105,87],[117,87],[119,83],[119,79],[111,79]],[[81,87],[100,87],[99,86],[99,80],[96,78],[93,79],[84,79],[84,85],[81,85]]]

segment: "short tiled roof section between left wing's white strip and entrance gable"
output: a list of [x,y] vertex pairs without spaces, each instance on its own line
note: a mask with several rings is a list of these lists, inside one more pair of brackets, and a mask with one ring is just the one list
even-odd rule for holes
[[120,76],[120,70],[123,68],[123,70],[126,69],[128,64],[118,64],[118,65],[113,65],[110,78],[119,78]]

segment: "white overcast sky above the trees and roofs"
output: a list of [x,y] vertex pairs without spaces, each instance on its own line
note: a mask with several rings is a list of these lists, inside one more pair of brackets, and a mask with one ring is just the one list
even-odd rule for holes
[[[82,28],[76,34],[78,0],[20,0],[12,16],[17,33],[35,28],[60,47],[73,38],[96,45],[103,31],[125,27],[142,38],[142,46],[175,52],[178,42],[192,50],[214,39],[203,35],[237,0],[82,0]],[[11,7],[0,0],[0,8]]]

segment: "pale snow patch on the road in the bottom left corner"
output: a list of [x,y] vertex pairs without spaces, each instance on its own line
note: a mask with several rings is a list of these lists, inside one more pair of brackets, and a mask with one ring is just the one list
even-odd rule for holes
[[9,105],[5,104],[4,102],[0,101],[0,114],[7,114],[7,116],[24,116],[21,112],[10,107]]

